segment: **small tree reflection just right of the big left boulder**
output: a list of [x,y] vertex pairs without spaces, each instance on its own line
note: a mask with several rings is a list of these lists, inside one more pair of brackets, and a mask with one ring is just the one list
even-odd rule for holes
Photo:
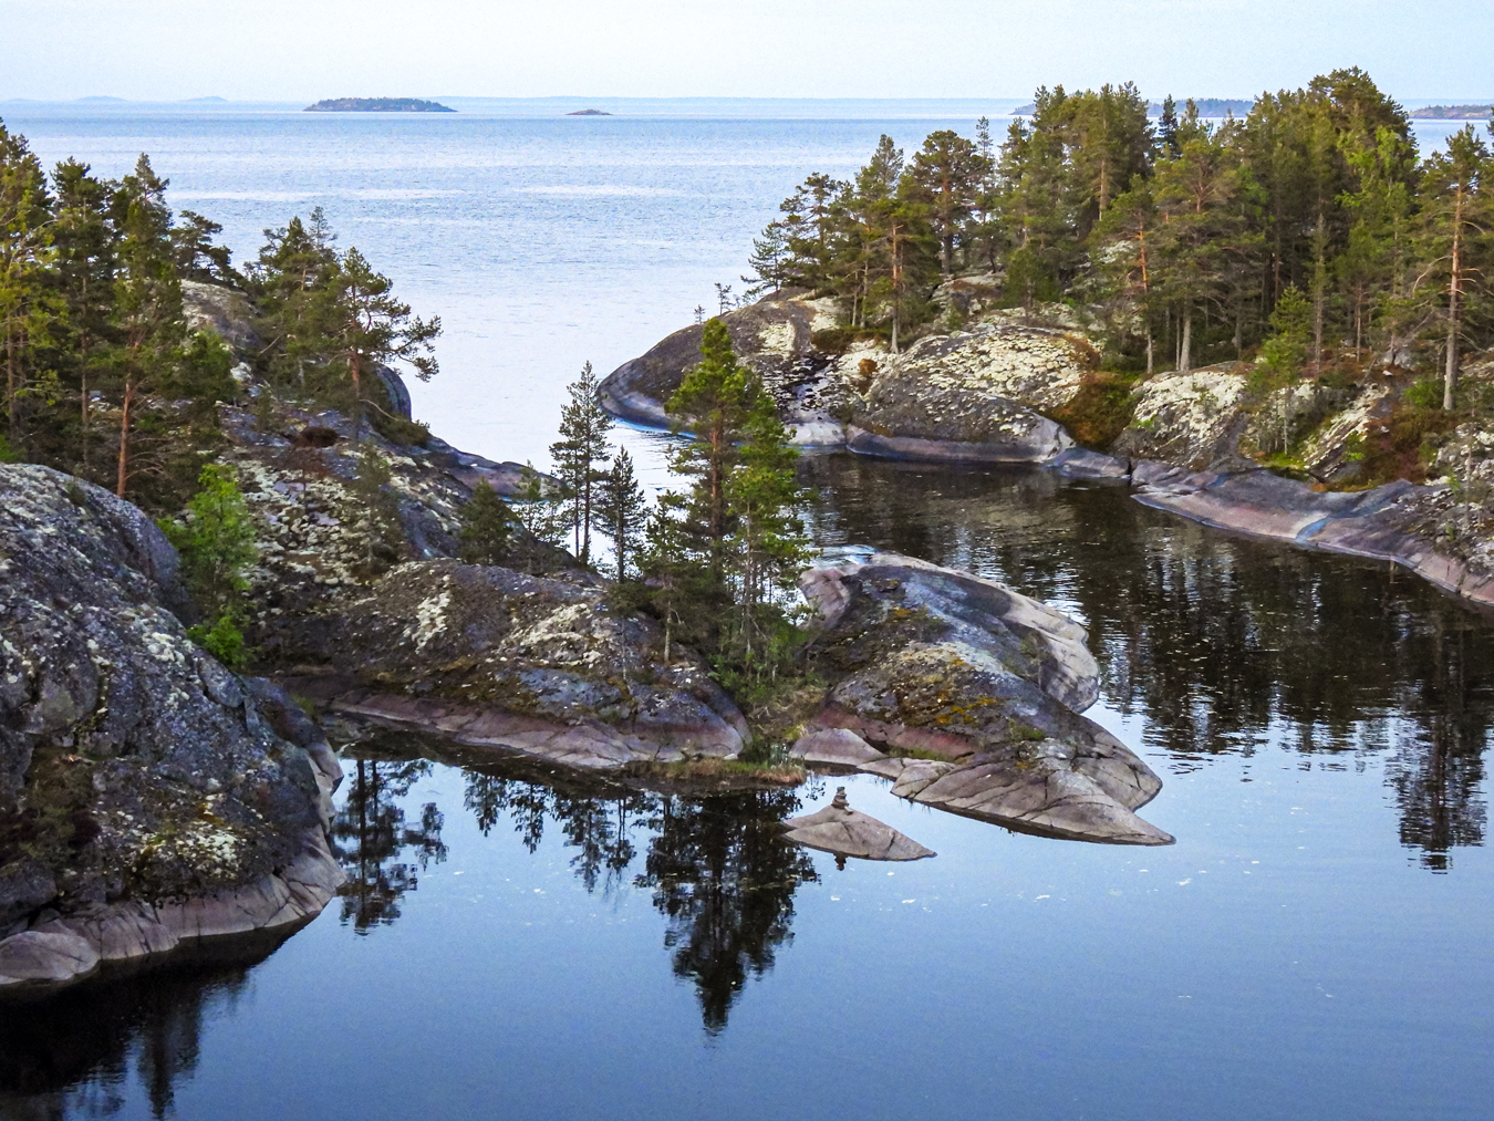
[[[417,824],[405,819],[399,804],[430,770],[424,759],[357,761],[347,801],[332,822],[332,844],[348,876],[338,888],[342,922],[359,934],[397,919],[400,897],[415,889],[418,871],[447,858],[436,804],[426,803]],[[403,859],[406,852],[412,861]]]

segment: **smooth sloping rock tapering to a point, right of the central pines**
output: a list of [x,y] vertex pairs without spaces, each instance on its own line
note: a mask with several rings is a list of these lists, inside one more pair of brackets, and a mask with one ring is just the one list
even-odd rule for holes
[[1014,830],[1171,843],[1135,815],[1161,780],[1076,711],[1098,697],[1098,667],[1071,619],[889,553],[810,569],[802,586],[820,613],[810,656],[832,685],[796,755],[832,752],[893,794]]

